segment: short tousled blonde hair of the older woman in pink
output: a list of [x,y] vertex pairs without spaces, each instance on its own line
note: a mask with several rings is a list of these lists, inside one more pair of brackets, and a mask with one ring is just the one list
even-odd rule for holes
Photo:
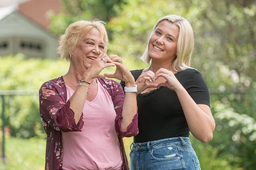
[[106,32],[105,23],[100,20],[86,21],[79,20],[72,23],[66,28],[64,35],[60,36],[57,53],[61,58],[68,61],[71,59],[71,54],[76,48],[77,43],[84,37],[92,28],[97,28],[100,31],[100,37],[105,43],[104,53],[108,49],[108,34]]

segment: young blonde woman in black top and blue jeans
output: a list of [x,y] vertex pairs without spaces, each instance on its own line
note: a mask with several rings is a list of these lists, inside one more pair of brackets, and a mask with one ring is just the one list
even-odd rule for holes
[[[177,15],[159,19],[142,56],[150,67],[131,71],[138,86],[138,127],[131,169],[200,169],[189,132],[202,142],[215,123],[203,76],[189,67],[193,29]],[[125,86],[125,82],[121,82]]]

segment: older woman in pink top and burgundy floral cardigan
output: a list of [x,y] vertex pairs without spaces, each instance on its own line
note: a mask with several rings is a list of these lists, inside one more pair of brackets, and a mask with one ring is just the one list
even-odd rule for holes
[[[58,53],[70,61],[67,74],[43,83],[40,116],[47,134],[46,169],[129,169],[122,137],[138,133],[135,80],[117,55],[106,55],[104,23],[72,23]],[[105,74],[125,82],[122,87]],[[101,76],[102,77],[102,76]]]

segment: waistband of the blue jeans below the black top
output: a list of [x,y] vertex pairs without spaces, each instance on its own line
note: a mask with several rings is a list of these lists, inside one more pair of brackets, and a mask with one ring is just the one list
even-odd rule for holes
[[156,141],[142,142],[142,143],[131,143],[132,151],[142,151],[142,150],[151,150],[159,147],[168,147],[171,145],[191,145],[191,142],[188,137],[175,137],[175,138],[166,138],[159,139]]

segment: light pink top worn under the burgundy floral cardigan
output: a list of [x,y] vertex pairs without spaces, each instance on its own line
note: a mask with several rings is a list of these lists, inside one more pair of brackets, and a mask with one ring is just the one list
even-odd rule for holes
[[[82,131],[61,132],[63,169],[122,168],[113,102],[98,80],[97,86],[95,99],[85,102]],[[67,100],[73,92],[67,86]]]

